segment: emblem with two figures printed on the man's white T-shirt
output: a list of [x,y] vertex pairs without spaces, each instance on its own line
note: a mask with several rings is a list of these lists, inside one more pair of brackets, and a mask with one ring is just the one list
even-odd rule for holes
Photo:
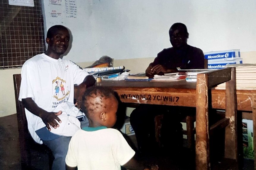
[[53,88],[54,88],[53,98],[56,98],[57,101],[59,101],[59,102],[56,102],[55,104],[58,105],[59,103],[66,102],[69,98],[69,93],[70,93],[69,90],[65,92],[66,80],[60,77],[56,77],[52,81],[52,84],[55,84],[53,85]]

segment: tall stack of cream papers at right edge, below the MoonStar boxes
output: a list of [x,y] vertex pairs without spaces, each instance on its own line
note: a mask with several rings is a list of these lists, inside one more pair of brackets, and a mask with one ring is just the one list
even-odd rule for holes
[[[236,89],[256,89],[256,64],[229,64],[225,67],[236,67]],[[225,89],[225,85],[219,84],[216,89]]]

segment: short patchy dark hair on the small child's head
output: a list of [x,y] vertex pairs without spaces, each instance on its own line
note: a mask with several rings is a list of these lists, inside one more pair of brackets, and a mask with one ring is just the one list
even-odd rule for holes
[[[91,98],[99,97],[100,101],[91,101]],[[116,98],[115,92],[107,87],[91,86],[83,94],[81,109],[88,116],[92,111],[99,107],[106,107],[104,100],[107,98]]]

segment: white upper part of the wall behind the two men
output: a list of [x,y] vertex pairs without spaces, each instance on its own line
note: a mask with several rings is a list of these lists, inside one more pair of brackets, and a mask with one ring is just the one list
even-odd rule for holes
[[187,25],[188,44],[204,52],[256,51],[255,0],[43,0],[45,30],[71,33],[74,62],[155,57],[171,46],[168,30]]

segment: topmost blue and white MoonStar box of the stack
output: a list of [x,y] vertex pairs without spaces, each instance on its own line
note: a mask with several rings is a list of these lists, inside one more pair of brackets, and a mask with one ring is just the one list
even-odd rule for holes
[[240,57],[240,50],[210,51],[204,53],[204,58],[211,61],[235,60]]

